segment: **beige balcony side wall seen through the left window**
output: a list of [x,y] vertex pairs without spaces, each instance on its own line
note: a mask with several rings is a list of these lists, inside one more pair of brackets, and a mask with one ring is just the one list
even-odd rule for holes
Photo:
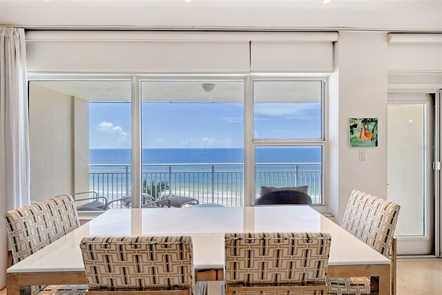
[[74,190],[73,97],[35,83],[29,87],[30,199]]

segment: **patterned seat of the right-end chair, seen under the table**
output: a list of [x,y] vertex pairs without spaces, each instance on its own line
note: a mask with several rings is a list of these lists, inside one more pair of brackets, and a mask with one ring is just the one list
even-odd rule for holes
[[332,295],[362,295],[370,294],[370,278],[354,276],[352,278],[327,278],[329,294]]

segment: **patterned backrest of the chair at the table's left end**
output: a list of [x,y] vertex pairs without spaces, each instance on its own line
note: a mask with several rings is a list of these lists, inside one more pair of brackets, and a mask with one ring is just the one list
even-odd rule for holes
[[79,227],[77,210],[71,196],[48,199],[5,214],[12,250],[12,262],[31,254]]

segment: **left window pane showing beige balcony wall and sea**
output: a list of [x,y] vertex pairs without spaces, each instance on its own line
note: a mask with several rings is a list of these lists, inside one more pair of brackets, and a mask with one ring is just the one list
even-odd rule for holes
[[131,81],[31,81],[29,106],[32,200],[131,193]]

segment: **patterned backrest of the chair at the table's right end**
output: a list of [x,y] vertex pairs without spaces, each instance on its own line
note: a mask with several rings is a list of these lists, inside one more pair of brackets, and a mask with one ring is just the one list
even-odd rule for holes
[[342,227],[389,258],[400,209],[396,203],[353,190]]

